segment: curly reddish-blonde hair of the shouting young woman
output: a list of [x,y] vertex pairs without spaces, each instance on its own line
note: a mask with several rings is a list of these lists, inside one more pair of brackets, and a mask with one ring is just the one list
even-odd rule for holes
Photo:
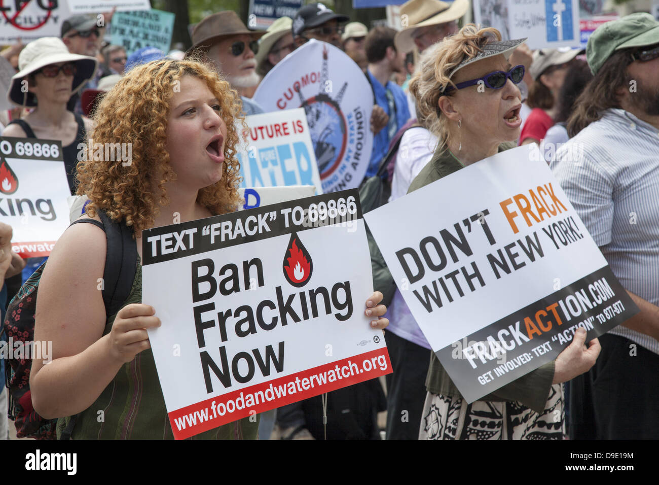
[[123,166],[121,160],[78,163],[77,193],[90,199],[86,206],[90,216],[103,210],[112,220],[125,220],[132,226],[134,236],[138,236],[154,224],[159,207],[169,204],[164,184],[177,176],[169,165],[165,131],[169,101],[185,75],[206,83],[219,100],[219,114],[227,125],[222,178],[200,189],[197,202],[213,214],[236,209],[241,178],[236,150],[240,133],[235,121],[242,121],[246,129],[240,96],[209,65],[161,59],[130,69],[103,96],[96,109],[96,126],[91,137],[94,144],[132,143],[132,160],[129,166]]

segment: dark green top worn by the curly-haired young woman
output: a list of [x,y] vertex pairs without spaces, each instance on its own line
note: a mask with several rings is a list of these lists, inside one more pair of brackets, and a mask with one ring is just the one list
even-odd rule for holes
[[[142,264],[138,255],[132,288],[123,306],[142,302]],[[103,335],[110,333],[116,314],[109,317]],[[70,418],[57,420],[57,437]],[[243,418],[191,439],[256,439],[258,418]],[[151,349],[124,364],[94,404],[84,410],[71,439],[174,439]]]

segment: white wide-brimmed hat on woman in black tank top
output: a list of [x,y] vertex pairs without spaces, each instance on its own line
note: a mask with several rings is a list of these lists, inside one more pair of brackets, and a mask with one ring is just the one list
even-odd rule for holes
[[72,54],[57,37],[42,37],[30,42],[18,55],[18,73],[11,78],[7,99],[19,106],[37,106],[33,93],[22,92],[22,80],[42,67],[61,62],[74,62],[76,75],[73,77],[73,91],[78,92],[96,74],[98,61],[94,57]]

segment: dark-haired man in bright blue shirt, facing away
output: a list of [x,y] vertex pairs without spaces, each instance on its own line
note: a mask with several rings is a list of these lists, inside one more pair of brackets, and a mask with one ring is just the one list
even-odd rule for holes
[[378,172],[378,166],[387,154],[391,139],[410,118],[405,93],[395,82],[389,81],[393,73],[404,71],[405,52],[399,52],[395,48],[395,35],[393,28],[376,27],[366,36],[366,76],[373,88],[376,104],[389,116],[384,129],[373,137],[373,151],[366,177],[372,177]]

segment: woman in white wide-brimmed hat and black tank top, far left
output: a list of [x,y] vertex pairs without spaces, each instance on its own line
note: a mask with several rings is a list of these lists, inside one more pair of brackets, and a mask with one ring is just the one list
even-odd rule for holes
[[34,110],[12,121],[3,136],[60,140],[71,193],[75,193],[78,144],[85,143],[92,121],[67,111],[67,102],[94,76],[97,66],[94,57],[69,53],[58,38],[43,37],[20,53],[19,72],[7,94],[14,104]]

